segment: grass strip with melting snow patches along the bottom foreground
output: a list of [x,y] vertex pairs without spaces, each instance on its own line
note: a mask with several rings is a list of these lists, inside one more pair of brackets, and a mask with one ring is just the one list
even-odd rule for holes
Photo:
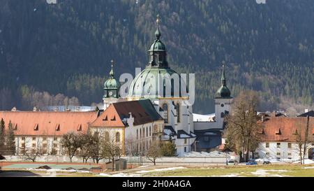
[[[148,166],[128,169],[126,171],[105,172],[99,174],[63,171],[24,171],[27,176],[58,177],[111,177],[111,176],[214,176],[214,177],[314,177],[314,165],[270,164],[270,165],[238,165],[220,167],[163,167]],[[0,173],[1,176],[23,176],[23,171],[10,170]]]

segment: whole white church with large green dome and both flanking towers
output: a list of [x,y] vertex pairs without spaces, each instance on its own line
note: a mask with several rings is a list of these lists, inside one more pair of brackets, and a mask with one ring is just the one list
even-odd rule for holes
[[[225,115],[230,112],[230,90],[227,88],[225,70],[221,78],[221,87],[216,93],[216,117],[212,122],[193,121],[193,106],[185,104],[189,99],[186,80],[179,73],[170,68],[167,62],[167,50],[160,40],[160,29],[157,20],[156,39],[148,50],[149,62],[146,68],[135,76],[130,87],[128,97],[119,97],[119,82],[113,78],[113,69],[110,78],[104,84],[104,108],[112,101],[137,101],[149,99],[156,112],[163,118],[163,141],[172,140],[177,146],[177,155],[183,156],[190,151],[207,151],[221,144],[221,132]],[[113,84],[113,85],[110,85]],[[108,92],[114,92],[108,94]],[[208,136],[218,132],[217,136]],[[198,137],[197,137],[198,135]],[[206,144],[206,140],[217,139],[214,144]]]

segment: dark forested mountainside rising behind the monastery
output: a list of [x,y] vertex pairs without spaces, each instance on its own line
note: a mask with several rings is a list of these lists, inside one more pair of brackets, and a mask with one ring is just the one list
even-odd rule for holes
[[117,75],[146,66],[158,14],[170,66],[195,73],[196,112],[214,111],[223,60],[232,96],[313,106],[313,0],[0,0],[0,109],[99,103],[111,59]]

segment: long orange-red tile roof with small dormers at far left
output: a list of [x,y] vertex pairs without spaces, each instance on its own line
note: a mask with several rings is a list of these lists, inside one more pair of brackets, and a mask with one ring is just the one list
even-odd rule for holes
[[87,132],[89,123],[96,120],[98,113],[50,112],[50,111],[0,111],[0,120],[11,120],[15,135],[62,136],[67,132]]

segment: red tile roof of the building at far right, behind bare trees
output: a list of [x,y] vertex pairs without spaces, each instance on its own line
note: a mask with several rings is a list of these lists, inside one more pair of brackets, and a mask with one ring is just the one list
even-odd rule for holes
[[[306,128],[306,118],[278,118],[270,117],[261,122],[263,125],[262,131],[262,141],[295,141],[295,132],[299,131],[302,127],[302,135],[304,135],[304,130]],[[309,122],[309,132],[314,134],[314,118],[310,118]],[[309,135],[312,139],[312,134]]]

